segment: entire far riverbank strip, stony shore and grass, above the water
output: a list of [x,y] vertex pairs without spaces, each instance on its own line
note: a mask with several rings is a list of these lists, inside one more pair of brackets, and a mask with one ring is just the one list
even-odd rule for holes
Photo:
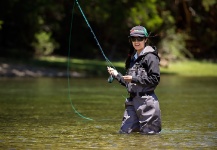
[[[123,62],[113,62],[115,68],[124,73]],[[42,57],[28,62],[1,61],[0,77],[99,77],[108,76],[106,62],[98,60]],[[69,68],[70,73],[67,73]],[[180,76],[217,77],[217,63],[186,60],[160,67],[161,74]]]

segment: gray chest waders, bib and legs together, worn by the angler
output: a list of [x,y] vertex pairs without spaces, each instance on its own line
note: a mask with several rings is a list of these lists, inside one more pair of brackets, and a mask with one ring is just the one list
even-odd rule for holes
[[[146,55],[140,56],[136,60],[132,68],[128,70],[128,75],[147,76],[147,66],[142,63]],[[130,97],[125,101],[120,133],[160,133],[161,112],[159,102],[154,91],[146,91],[146,89],[146,86],[141,84],[129,83],[127,85]]]

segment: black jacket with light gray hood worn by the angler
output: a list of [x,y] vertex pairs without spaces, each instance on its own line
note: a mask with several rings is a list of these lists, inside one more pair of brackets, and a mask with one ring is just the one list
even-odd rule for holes
[[132,76],[132,82],[125,82],[121,73],[116,79],[126,86],[129,93],[153,92],[160,82],[159,62],[157,52],[151,46],[146,46],[137,59],[132,58],[131,67],[127,70],[126,75]]

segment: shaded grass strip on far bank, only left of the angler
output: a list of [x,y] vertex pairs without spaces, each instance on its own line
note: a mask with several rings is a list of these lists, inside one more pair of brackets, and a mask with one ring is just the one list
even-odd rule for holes
[[[112,62],[117,70],[124,71],[123,62]],[[48,66],[60,69],[69,67],[71,71],[84,73],[87,76],[108,76],[106,61],[90,60],[90,59],[70,59],[68,61],[65,57],[40,57],[35,59],[32,64],[38,66]]]

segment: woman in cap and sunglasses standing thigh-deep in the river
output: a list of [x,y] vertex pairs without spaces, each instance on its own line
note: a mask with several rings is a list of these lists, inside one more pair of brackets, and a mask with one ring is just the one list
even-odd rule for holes
[[148,46],[148,38],[145,27],[133,27],[129,36],[130,51],[125,62],[126,75],[107,67],[108,73],[129,93],[120,133],[158,134],[161,131],[161,111],[154,92],[160,82],[160,59],[157,51]]

